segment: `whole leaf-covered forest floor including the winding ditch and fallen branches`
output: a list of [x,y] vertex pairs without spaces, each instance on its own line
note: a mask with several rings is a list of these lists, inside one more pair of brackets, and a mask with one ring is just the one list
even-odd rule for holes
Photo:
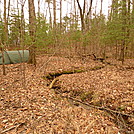
[[134,133],[134,59],[107,61],[44,55],[5,76],[0,66],[0,134]]

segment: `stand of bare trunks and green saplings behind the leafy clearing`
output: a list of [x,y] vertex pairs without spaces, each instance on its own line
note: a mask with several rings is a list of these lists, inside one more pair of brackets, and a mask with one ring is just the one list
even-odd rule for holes
[[[111,1],[109,14],[105,16],[102,12],[105,8],[103,0],[99,13],[97,7],[93,7],[94,0],[84,0],[83,5],[79,0],[70,0],[66,3],[71,8],[67,6],[67,13],[62,17],[62,0],[38,0],[37,13],[34,0],[17,0],[17,6],[12,9],[12,1],[3,0],[3,12],[0,14],[1,50],[29,49],[29,63],[34,65],[35,50],[67,55],[94,52],[104,58],[114,56],[123,63],[125,58],[134,57],[134,0]],[[2,7],[2,1],[0,4]],[[24,12],[26,4],[28,12]],[[45,13],[40,9],[43,4]],[[57,12],[60,12],[59,21]],[[25,14],[29,14],[28,22]]]

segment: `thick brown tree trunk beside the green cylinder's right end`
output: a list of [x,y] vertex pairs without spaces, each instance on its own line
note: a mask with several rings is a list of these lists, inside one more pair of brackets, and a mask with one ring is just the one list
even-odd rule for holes
[[34,0],[28,0],[28,7],[29,7],[29,30],[32,39],[32,45],[29,49],[30,55],[28,63],[36,65],[36,59],[35,59],[36,16],[35,16]]

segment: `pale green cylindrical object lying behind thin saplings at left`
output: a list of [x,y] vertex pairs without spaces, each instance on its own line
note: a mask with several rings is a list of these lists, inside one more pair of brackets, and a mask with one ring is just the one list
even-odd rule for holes
[[[27,62],[29,58],[28,50],[4,51],[4,64],[16,64]],[[0,65],[3,64],[2,53],[0,53]]]

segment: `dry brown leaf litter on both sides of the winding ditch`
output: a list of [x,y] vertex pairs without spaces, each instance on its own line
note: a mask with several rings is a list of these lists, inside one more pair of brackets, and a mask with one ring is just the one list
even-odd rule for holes
[[[36,69],[27,64],[7,65],[7,75],[0,71],[0,132],[14,134],[110,134],[119,128],[105,112],[72,106],[55,96],[42,76],[48,72],[72,68],[91,68],[102,63],[69,60],[62,57],[39,57]],[[131,60],[131,64],[134,61]],[[126,64],[126,66],[128,66]],[[44,68],[40,68],[44,65]],[[26,68],[25,75],[22,69]],[[0,68],[2,69],[2,67]],[[24,80],[25,77],[25,80]],[[62,90],[93,91],[92,103],[101,100],[104,106],[134,110],[134,70],[107,66],[101,70],[59,77]],[[25,82],[25,84],[24,84]],[[12,129],[12,127],[14,127]]]

